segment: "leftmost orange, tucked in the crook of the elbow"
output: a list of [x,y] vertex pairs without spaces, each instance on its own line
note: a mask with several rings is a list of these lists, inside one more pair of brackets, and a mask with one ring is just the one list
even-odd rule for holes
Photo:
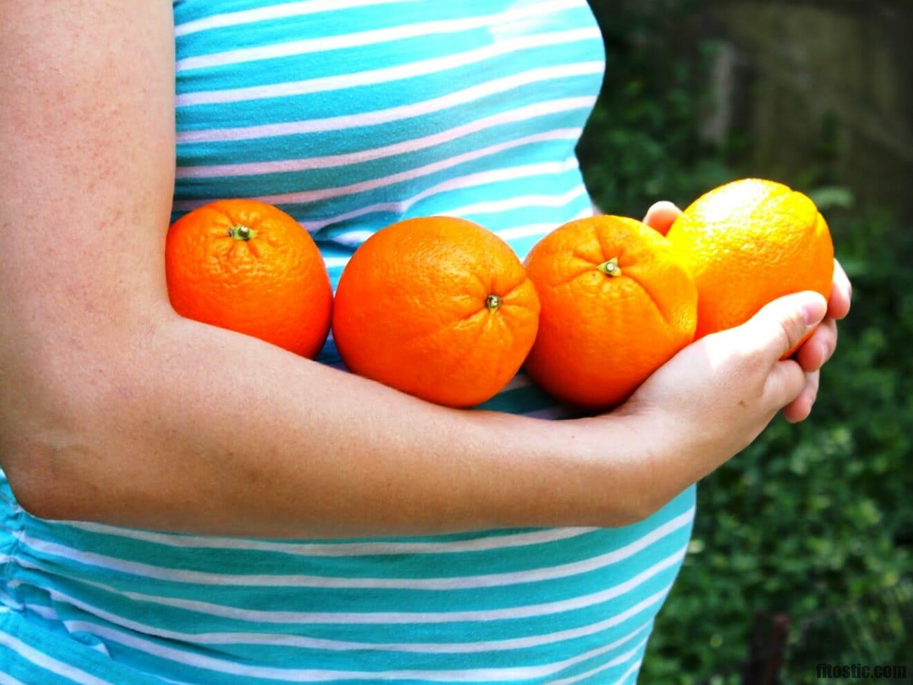
[[313,238],[256,200],[219,200],[175,221],[165,241],[174,311],[312,357],[330,330],[332,290]]

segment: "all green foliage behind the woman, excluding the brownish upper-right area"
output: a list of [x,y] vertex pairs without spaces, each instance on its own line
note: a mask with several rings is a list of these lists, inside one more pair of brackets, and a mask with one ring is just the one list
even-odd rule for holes
[[[739,163],[750,141],[700,141],[714,45],[681,36],[703,4],[593,3],[606,78],[578,153],[603,212],[643,216],[659,199],[684,206],[763,171]],[[819,203],[854,284],[853,311],[840,323],[812,416],[798,425],[778,417],[698,484],[694,538],[656,621],[646,683],[737,683],[723,674],[739,673],[757,612],[784,612],[801,625],[831,607],[869,606],[873,593],[913,575],[913,227],[834,186],[833,136],[825,138],[803,174],[776,180]],[[905,607],[909,636],[909,600]],[[806,631],[794,652],[814,648],[807,643],[824,639],[819,633]],[[828,634],[833,644],[817,647],[834,658],[852,653],[859,631],[845,634],[845,644]],[[913,653],[902,634],[878,634],[896,659]]]

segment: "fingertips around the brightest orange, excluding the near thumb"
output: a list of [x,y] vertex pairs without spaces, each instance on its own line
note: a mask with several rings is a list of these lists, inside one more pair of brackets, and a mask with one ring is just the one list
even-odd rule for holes
[[[671,202],[657,202],[647,210],[644,223],[665,236],[680,214],[681,210]],[[811,413],[818,394],[820,369],[834,354],[837,346],[837,321],[849,313],[852,292],[853,287],[846,278],[846,272],[840,262],[834,259],[834,283],[827,301],[827,315],[812,337],[793,355],[805,373],[805,386],[789,405],[782,408],[787,421],[802,421]]]

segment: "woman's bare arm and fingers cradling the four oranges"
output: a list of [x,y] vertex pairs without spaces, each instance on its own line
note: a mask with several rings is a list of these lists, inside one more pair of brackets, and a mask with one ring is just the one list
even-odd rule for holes
[[772,302],[570,421],[436,406],[179,317],[172,21],[164,2],[0,5],[0,465],[26,511],[275,538],[612,527],[779,410],[807,416],[849,307],[842,269],[799,361],[777,360],[803,311],[824,317],[820,295]]

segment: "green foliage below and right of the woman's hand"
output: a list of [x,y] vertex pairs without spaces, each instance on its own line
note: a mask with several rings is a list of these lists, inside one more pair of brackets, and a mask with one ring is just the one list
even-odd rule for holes
[[832,225],[854,302],[813,414],[776,419],[698,484],[692,553],[645,682],[731,668],[758,611],[802,620],[913,572],[913,241],[885,216]]

